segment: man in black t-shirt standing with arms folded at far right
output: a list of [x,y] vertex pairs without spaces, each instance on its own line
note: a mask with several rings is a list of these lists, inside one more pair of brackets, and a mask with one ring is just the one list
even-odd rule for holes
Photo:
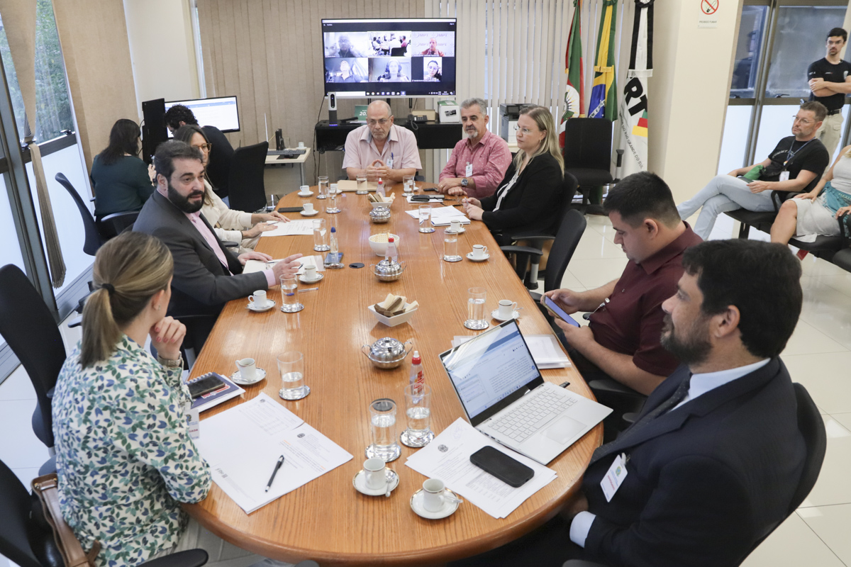
[[845,96],[851,93],[851,63],[840,57],[842,48],[848,39],[848,33],[841,27],[835,27],[827,33],[827,54],[815,61],[807,69],[810,100],[818,100],[827,108],[827,117],[816,133],[816,137],[827,148],[827,155],[833,156],[839,139],[842,138],[842,105]]

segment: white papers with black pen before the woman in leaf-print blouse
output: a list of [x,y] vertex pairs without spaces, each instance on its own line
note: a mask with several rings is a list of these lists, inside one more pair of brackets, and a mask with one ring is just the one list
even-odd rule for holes
[[[340,445],[266,394],[205,419],[196,445],[215,484],[245,513],[351,461]],[[266,492],[282,455],[283,465]]]

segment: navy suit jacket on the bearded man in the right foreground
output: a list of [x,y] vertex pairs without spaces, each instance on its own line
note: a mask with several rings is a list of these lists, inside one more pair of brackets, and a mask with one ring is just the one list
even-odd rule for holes
[[[650,394],[642,415],[685,377],[681,366]],[[806,455],[795,392],[777,358],[623,443],[592,457],[583,480],[597,514],[585,552],[611,567],[740,564],[785,518]],[[600,481],[620,453],[629,459],[626,477],[606,502]]]

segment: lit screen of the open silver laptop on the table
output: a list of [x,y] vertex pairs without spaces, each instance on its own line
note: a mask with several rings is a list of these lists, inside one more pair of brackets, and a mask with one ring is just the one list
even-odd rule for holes
[[473,425],[544,382],[515,320],[446,351],[440,359]]

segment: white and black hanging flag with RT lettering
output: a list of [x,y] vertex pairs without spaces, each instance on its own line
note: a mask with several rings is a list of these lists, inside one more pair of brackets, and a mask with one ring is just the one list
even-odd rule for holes
[[620,177],[647,171],[647,77],[653,75],[653,3],[635,0],[630,67],[620,101],[621,148],[624,161]]

